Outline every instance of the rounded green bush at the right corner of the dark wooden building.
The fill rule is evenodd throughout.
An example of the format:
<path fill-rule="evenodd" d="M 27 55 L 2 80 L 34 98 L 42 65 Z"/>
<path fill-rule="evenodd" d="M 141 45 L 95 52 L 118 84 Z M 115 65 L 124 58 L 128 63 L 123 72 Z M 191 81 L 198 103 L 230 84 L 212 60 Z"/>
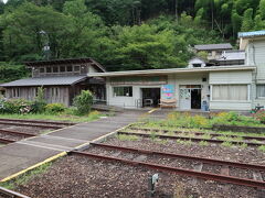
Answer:
<path fill-rule="evenodd" d="M 82 90 L 81 95 L 74 98 L 74 106 L 77 108 L 77 114 L 83 116 L 91 112 L 93 95 L 89 90 Z"/>

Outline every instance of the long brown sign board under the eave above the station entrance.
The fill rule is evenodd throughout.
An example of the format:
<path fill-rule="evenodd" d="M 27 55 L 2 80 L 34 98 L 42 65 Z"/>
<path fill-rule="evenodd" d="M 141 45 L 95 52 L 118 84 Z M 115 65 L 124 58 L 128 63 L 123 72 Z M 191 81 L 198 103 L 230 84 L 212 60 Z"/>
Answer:
<path fill-rule="evenodd" d="M 128 76 L 110 78 L 112 85 L 165 85 L 167 81 L 167 76 Z"/>

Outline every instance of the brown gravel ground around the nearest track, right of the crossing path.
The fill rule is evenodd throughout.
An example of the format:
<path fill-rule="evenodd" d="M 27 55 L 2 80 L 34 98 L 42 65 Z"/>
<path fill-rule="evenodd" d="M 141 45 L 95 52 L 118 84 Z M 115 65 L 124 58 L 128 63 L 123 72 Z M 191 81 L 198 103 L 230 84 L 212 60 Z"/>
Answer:
<path fill-rule="evenodd" d="M 147 139 L 119 141 L 110 139 L 108 144 L 191 154 L 219 160 L 265 164 L 265 154 L 254 148 L 221 147 L 218 145 L 182 145 L 173 142 L 156 143 Z M 95 148 L 89 148 L 89 152 Z M 115 154 L 115 153 L 113 153 Z M 116 155 L 117 152 L 116 152 Z M 125 157 L 135 157 L 134 154 Z M 166 163 L 165 161 L 163 163 Z M 172 163 L 171 161 L 168 162 Z M 205 167 L 208 168 L 208 167 Z M 55 162 L 49 170 L 35 176 L 18 191 L 34 198 L 70 197 L 147 197 L 148 176 L 156 170 L 132 167 L 117 162 L 93 160 L 84 156 L 67 156 Z M 159 173 L 156 197 L 179 198 L 258 198 L 259 190 L 243 186 L 195 179 L 168 173 Z"/>

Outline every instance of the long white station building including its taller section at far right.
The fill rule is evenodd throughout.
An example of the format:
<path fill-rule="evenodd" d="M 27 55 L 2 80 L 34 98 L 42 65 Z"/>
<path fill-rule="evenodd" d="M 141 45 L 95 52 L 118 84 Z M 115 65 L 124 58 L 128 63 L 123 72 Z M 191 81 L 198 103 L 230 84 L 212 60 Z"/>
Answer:
<path fill-rule="evenodd" d="M 250 111 L 265 106 L 265 31 L 239 34 L 245 63 L 88 74 L 106 79 L 106 101 L 121 108 Z"/>

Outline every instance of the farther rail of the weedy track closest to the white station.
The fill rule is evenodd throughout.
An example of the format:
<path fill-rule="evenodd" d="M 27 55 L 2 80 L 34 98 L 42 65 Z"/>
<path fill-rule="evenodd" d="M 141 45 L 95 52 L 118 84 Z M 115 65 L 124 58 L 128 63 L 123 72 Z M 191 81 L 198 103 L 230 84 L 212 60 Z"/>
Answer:
<path fill-rule="evenodd" d="M 247 135 L 236 135 L 236 134 L 222 134 L 222 133 L 203 133 L 203 132 L 195 132 L 195 131 L 177 131 L 177 130 L 160 130 L 160 129 L 151 129 L 151 128 L 135 128 L 130 127 L 128 129 L 131 130 L 142 130 L 142 131 L 155 131 L 155 132 L 173 132 L 173 133 L 191 133 L 195 135 L 204 135 L 209 134 L 212 136 L 231 136 L 231 138 L 243 138 L 245 140 L 258 140 L 258 141 L 265 141 L 265 136 L 247 136 Z"/>

